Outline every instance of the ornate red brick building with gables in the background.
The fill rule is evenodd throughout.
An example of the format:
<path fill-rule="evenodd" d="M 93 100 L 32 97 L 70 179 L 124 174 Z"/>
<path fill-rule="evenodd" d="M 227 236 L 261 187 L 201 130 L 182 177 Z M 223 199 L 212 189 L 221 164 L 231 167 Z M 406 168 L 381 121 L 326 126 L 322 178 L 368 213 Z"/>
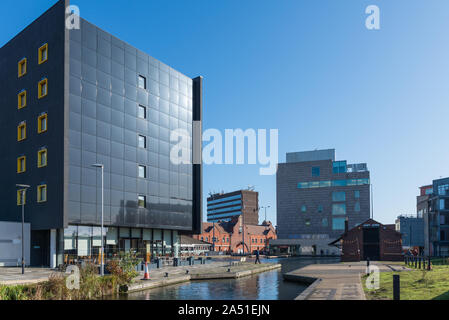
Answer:
<path fill-rule="evenodd" d="M 276 230 L 269 221 L 262 225 L 245 224 L 243 228 L 239 216 L 229 222 L 203 222 L 203 232 L 192 237 L 211 244 L 215 238 L 215 251 L 252 253 L 268 249 L 270 239 L 276 239 Z"/>

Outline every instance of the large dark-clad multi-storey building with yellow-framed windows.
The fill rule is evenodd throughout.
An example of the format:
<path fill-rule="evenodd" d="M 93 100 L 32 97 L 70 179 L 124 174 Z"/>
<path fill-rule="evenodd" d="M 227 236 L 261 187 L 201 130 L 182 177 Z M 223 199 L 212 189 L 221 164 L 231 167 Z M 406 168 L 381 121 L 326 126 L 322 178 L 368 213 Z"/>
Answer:
<path fill-rule="evenodd" d="M 202 78 L 84 19 L 67 28 L 68 2 L 0 48 L 0 221 L 20 221 L 15 185 L 29 184 L 31 264 L 95 257 L 102 197 L 92 165 L 102 164 L 106 255 L 176 254 L 178 231 L 201 231 L 201 167 L 170 161 L 170 132 L 185 129 L 190 159 L 201 153 L 192 127 L 201 120 Z"/>

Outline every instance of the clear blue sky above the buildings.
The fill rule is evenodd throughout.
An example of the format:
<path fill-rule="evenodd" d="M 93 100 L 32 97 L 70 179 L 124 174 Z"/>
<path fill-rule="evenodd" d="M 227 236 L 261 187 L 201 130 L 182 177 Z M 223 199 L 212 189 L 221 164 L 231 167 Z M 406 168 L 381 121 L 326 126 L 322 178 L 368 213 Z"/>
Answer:
<path fill-rule="evenodd" d="M 2 0 L 0 45 L 55 0 Z M 279 129 L 285 153 L 335 148 L 366 162 L 374 218 L 416 212 L 418 187 L 449 176 L 447 0 L 78 0 L 81 16 L 190 77 L 204 129 Z M 380 30 L 365 8 L 380 8 Z M 204 167 L 204 197 L 253 185 L 276 222 L 276 178 Z"/>

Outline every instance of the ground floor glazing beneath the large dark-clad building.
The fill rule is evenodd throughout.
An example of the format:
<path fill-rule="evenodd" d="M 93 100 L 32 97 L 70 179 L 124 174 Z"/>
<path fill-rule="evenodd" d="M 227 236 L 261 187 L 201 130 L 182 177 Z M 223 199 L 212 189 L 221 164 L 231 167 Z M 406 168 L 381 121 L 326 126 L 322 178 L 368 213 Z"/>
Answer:
<path fill-rule="evenodd" d="M 103 239 L 106 262 L 126 253 L 151 260 L 178 257 L 180 250 L 177 230 L 105 227 Z M 80 262 L 99 263 L 101 227 L 69 225 L 66 229 L 51 230 L 49 243 L 48 260 L 51 267 Z M 36 258 L 35 265 L 46 264 L 45 254 L 42 259 Z"/>

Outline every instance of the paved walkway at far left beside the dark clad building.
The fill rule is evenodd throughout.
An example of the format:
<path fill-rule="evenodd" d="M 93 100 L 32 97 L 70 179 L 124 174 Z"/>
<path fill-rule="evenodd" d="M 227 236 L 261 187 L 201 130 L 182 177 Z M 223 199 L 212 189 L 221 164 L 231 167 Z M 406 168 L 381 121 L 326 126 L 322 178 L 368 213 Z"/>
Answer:
<path fill-rule="evenodd" d="M 54 272 L 48 268 L 25 268 L 25 274 L 22 274 L 21 267 L 2 267 L 0 268 L 0 284 L 17 285 L 43 282 L 47 281 Z"/>

